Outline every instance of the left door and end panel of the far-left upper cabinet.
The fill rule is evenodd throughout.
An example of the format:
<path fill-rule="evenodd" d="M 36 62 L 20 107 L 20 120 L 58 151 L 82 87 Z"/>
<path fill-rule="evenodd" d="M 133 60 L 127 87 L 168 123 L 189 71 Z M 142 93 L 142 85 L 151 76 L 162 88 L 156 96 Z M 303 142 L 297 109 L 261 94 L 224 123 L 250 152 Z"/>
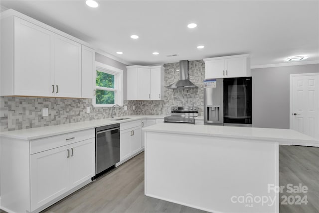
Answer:
<path fill-rule="evenodd" d="M 1 19 L 1 96 L 52 96 L 53 33 L 18 17 Z"/>

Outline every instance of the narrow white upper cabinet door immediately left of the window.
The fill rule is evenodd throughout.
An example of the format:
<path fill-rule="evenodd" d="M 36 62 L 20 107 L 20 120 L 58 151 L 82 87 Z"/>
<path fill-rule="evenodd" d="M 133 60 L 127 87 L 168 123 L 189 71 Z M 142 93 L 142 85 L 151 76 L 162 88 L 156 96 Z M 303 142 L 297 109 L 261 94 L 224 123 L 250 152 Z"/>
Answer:
<path fill-rule="evenodd" d="M 92 99 L 95 86 L 95 51 L 82 45 L 82 98 Z"/>

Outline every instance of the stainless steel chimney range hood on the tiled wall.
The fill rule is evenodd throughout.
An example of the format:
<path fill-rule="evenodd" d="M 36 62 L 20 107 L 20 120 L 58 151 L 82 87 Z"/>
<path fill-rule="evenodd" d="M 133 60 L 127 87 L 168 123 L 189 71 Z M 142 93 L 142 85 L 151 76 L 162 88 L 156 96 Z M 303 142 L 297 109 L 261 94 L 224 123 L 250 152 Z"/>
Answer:
<path fill-rule="evenodd" d="M 179 80 L 167 86 L 168 89 L 198 88 L 188 80 L 188 60 L 179 61 Z"/>

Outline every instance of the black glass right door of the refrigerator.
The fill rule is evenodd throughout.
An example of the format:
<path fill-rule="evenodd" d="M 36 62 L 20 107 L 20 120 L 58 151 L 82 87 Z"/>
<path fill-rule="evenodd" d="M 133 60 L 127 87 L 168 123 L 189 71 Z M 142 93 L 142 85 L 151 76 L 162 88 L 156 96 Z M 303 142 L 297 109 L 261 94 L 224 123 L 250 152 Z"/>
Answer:
<path fill-rule="evenodd" d="M 251 77 L 224 79 L 224 123 L 252 124 Z"/>

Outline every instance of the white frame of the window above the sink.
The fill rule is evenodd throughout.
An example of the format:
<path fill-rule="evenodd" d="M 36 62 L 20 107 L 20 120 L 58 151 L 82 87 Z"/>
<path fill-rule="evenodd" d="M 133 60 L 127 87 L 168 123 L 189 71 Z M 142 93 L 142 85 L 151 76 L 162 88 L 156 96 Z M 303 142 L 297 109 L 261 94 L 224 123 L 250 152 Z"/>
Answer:
<path fill-rule="evenodd" d="M 96 71 L 114 75 L 114 89 L 96 86 Z M 96 96 L 94 95 L 94 98 L 92 99 L 92 105 L 94 107 L 112 107 L 114 105 L 123 106 L 123 70 L 96 61 L 93 75 L 94 91 L 114 91 L 114 104 L 96 104 Z"/>

